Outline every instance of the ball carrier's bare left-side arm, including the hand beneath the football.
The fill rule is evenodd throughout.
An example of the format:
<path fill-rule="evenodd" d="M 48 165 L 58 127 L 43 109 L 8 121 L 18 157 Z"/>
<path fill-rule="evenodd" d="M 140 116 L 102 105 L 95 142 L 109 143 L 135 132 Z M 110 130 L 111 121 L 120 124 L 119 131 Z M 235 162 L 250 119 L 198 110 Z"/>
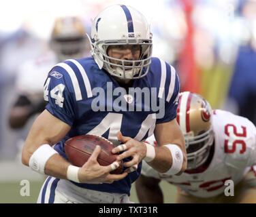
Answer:
<path fill-rule="evenodd" d="M 42 144 L 52 146 L 59 142 L 69 132 L 70 126 L 51 115 L 47 110 L 37 117 L 22 150 L 22 163 L 29 165 L 31 156 Z M 78 180 L 86 183 L 107 182 L 124 178 L 127 174 L 110 174 L 111 166 L 101 166 L 97 163 L 100 147 L 97 147 L 89 160 L 78 170 Z M 57 178 L 67 179 L 67 169 L 71 165 L 59 153 L 54 153 L 45 163 L 44 173 Z"/>

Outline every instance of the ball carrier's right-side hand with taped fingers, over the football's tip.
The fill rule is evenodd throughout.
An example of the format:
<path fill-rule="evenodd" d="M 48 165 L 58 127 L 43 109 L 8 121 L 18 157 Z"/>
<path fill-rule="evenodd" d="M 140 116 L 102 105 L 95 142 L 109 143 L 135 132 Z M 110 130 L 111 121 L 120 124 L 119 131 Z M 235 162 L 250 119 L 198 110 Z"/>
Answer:
<path fill-rule="evenodd" d="M 121 132 L 118 132 L 117 138 L 119 141 L 123 142 L 123 144 L 116 146 L 112 149 L 112 153 L 116 154 L 120 151 L 125 151 L 121 155 L 118 155 L 116 158 L 117 161 L 121 161 L 126 157 L 132 157 L 131 161 L 127 161 L 124 163 L 125 167 L 131 167 L 126 172 L 132 172 L 133 170 L 137 170 L 138 164 L 144 157 L 146 156 L 146 145 L 143 142 L 139 142 L 137 140 L 133 140 L 131 137 L 123 136 Z"/>

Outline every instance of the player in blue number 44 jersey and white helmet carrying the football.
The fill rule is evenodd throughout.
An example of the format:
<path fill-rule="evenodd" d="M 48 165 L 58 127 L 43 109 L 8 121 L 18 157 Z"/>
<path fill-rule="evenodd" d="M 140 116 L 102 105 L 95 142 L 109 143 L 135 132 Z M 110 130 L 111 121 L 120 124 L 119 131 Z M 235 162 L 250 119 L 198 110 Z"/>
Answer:
<path fill-rule="evenodd" d="M 142 159 L 166 175 L 187 167 L 176 122 L 178 75 L 151 57 L 152 34 L 144 16 L 126 5 L 107 7 L 93 20 L 89 38 L 93 57 L 65 60 L 48 73 L 48 105 L 22 150 L 22 163 L 48 175 L 38 203 L 129 203 Z M 144 143 L 153 133 L 157 147 Z M 71 165 L 65 141 L 82 134 L 113 142 L 117 161 L 99 165 L 97 146 L 82 167 Z M 122 160 L 123 173 L 110 174 Z"/>

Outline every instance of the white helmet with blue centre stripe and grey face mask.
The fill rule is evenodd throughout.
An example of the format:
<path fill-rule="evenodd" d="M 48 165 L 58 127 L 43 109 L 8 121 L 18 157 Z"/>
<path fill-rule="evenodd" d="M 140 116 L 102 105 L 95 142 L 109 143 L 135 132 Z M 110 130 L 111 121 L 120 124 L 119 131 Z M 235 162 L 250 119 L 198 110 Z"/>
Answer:
<path fill-rule="evenodd" d="M 93 58 L 99 68 L 121 79 L 139 79 L 148 73 L 152 34 L 146 18 L 138 10 L 126 5 L 113 5 L 100 12 L 92 22 L 89 39 Z M 112 58 L 107 54 L 110 45 L 140 45 L 140 59 Z M 114 64 L 110 60 L 121 64 Z"/>

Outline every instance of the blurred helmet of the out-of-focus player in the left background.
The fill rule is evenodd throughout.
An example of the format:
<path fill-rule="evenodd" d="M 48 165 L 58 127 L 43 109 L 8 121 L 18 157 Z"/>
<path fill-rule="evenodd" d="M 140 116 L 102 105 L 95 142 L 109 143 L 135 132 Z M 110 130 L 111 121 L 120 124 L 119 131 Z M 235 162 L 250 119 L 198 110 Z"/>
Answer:
<path fill-rule="evenodd" d="M 86 31 L 82 20 L 75 16 L 57 18 L 52 28 L 50 46 L 59 61 L 82 58 L 87 49 Z"/>

